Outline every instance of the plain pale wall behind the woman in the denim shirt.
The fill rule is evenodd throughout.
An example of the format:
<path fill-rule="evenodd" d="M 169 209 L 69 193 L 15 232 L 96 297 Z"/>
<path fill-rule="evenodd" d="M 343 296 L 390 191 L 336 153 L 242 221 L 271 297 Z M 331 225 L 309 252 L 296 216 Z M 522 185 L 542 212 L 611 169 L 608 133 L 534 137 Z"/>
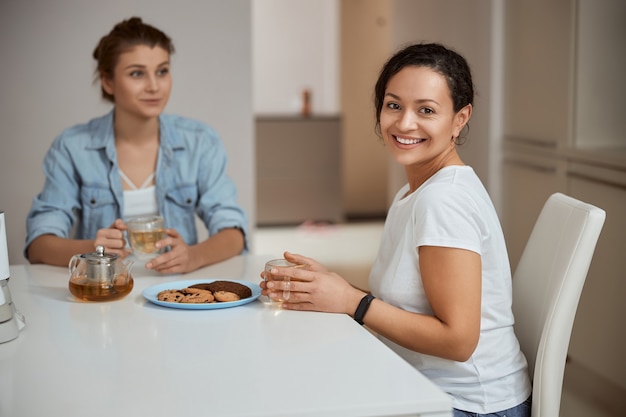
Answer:
<path fill-rule="evenodd" d="M 11 263 L 24 263 L 26 214 L 43 185 L 53 138 L 109 107 L 93 85 L 93 48 L 133 15 L 174 41 L 174 90 L 166 112 L 220 133 L 229 173 L 254 224 L 250 0 L 0 1 L 0 210 Z"/>

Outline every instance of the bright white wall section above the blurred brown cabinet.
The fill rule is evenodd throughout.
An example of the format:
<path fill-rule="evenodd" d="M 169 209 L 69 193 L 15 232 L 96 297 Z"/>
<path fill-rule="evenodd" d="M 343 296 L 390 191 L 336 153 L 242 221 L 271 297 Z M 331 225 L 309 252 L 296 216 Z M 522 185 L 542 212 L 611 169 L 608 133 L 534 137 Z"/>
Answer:
<path fill-rule="evenodd" d="M 312 91 L 312 110 L 339 111 L 339 0 L 253 0 L 255 114 L 300 111 Z"/>

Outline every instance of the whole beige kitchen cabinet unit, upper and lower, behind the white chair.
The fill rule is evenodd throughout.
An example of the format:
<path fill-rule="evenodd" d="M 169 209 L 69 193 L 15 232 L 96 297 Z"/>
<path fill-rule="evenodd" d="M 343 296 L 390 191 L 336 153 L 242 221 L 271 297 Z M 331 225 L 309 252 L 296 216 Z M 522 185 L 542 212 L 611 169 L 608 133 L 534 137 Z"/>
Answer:
<path fill-rule="evenodd" d="M 611 119 L 623 107 L 626 91 L 623 71 L 615 69 L 626 62 L 626 32 L 614 18 L 626 16 L 626 3 L 602 3 L 506 2 L 501 164 L 501 218 L 513 268 L 551 193 L 569 194 L 607 213 L 569 348 L 570 360 L 588 371 L 584 379 L 603 384 L 589 387 L 598 398 L 626 392 L 626 256 L 621 253 L 626 248 L 626 135 L 623 123 Z M 603 60 L 586 58 L 598 48 Z"/>

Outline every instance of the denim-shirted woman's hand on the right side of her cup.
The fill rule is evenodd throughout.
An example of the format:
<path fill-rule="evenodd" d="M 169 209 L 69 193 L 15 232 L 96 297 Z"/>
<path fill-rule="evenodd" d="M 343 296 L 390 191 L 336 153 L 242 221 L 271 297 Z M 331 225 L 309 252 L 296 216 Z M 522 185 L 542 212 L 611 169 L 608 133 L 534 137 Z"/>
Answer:
<path fill-rule="evenodd" d="M 152 269 L 162 274 L 178 274 L 191 272 L 197 267 L 192 264 L 193 256 L 191 247 L 175 229 L 165 231 L 167 237 L 159 240 L 155 245 L 158 248 L 170 247 L 170 250 L 151 259 L 147 264 L 147 269 Z"/>

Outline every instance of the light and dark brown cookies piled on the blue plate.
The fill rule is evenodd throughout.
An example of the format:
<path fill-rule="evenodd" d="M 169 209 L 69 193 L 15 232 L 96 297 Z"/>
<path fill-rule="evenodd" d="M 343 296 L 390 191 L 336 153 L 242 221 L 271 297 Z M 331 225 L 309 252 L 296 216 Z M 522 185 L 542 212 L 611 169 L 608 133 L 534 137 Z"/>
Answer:
<path fill-rule="evenodd" d="M 238 282 L 213 281 L 194 284 L 182 289 L 163 290 L 157 295 L 159 301 L 168 303 L 224 303 L 252 296 L 252 290 Z"/>

